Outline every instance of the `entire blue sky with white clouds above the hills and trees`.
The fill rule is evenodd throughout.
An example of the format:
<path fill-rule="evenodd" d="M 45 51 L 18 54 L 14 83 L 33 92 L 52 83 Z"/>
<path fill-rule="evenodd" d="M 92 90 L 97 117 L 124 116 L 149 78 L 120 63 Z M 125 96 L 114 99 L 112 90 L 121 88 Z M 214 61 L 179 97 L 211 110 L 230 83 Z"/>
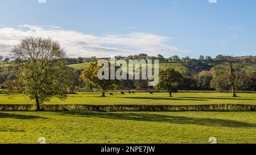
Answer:
<path fill-rule="evenodd" d="M 26 36 L 69 57 L 256 54 L 255 0 L 0 0 L 0 55 Z"/>

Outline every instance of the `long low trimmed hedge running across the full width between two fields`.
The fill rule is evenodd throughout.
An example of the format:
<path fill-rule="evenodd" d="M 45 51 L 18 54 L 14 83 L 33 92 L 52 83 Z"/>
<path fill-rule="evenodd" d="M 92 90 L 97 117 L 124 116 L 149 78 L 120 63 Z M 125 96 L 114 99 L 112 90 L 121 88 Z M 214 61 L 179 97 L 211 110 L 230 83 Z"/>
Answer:
<path fill-rule="evenodd" d="M 256 104 L 205 104 L 205 105 L 90 105 L 46 104 L 44 111 L 256 111 Z M 33 104 L 0 104 L 0 111 L 34 111 Z"/>

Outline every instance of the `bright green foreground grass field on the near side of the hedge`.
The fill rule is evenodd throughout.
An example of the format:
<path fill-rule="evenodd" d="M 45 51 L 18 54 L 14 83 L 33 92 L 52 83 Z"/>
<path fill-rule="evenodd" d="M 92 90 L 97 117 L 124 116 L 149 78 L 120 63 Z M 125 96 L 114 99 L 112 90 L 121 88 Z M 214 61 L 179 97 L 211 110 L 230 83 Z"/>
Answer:
<path fill-rule="evenodd" d="M 256 143 L 255 112 L 0 112 L 0 143 Z"/>

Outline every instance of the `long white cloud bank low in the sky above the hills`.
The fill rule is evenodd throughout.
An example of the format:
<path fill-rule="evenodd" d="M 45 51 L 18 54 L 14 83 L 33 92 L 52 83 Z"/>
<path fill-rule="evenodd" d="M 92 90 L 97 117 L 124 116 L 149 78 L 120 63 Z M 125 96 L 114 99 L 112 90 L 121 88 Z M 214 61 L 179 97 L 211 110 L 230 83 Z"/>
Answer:
<path fill-rule="evenodd" d="M 26 36 L 52 37 L 53 40 L 59 41 L 71 57 L 109 57 L 135 55 L 141 52 L 148 55 L 160 53 L 169 56 L 179 52 L 190 52 L 168 45 L 167 42 L 172 40 L 170 37 L 150 33 L 133 32 L 126 35 L 107 33 L 97 36 L 64 30 L 56 26 L 22 25 L 18 28 L 0 28 L 0 55 L 7 55 L 11 48 Z"/>

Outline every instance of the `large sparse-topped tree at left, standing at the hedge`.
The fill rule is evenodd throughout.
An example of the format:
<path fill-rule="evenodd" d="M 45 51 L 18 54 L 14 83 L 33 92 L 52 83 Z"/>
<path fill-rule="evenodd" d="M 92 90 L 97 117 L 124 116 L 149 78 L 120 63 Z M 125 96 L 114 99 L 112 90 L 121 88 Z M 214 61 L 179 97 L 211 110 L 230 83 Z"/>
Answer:
<path fill-rule="evenodd" d="M 23 93 L 36 102 L 36 110 L 43 110 L 43 103 L 53 97 L 67 98 L 70 85 L 65 52 L 52 39 L 26 37 L 11 51 L 15 59 L 16 79 L 9 81 L 13 93 Z"/>

